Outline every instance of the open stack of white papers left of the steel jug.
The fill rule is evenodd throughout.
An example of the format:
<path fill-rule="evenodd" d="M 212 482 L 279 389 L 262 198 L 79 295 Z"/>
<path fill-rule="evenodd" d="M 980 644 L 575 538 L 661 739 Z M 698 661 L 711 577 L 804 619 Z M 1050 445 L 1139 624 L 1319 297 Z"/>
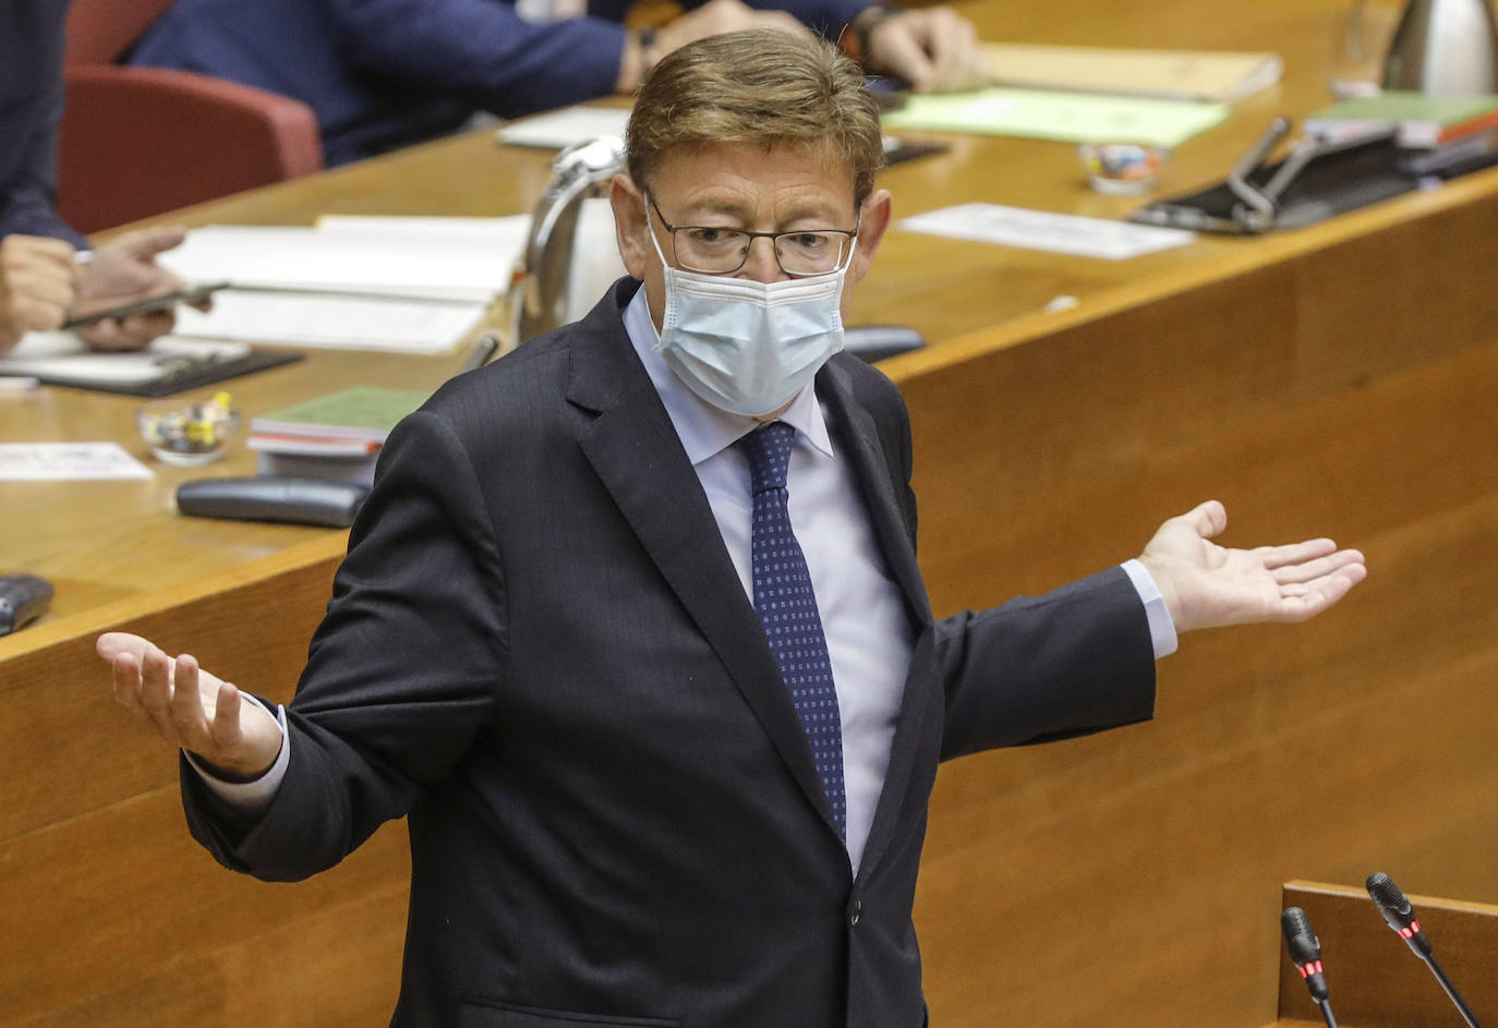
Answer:
<path fill-rule="evenodd" d="M 440 352 L 509 286 L 530 219 L 327 217 L 316 228 L 210 225 L 160 256 L 225 279 L 177 334 L 292 346 Z"/>

